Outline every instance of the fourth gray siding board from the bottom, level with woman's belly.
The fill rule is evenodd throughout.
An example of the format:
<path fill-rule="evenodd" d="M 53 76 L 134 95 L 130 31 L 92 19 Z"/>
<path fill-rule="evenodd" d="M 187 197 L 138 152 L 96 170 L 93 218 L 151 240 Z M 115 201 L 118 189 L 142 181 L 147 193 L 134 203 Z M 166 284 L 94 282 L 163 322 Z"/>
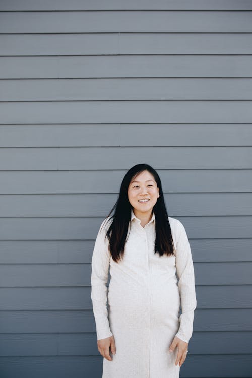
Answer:
<path fill-rule="evenodd" d="M 251 285 L 196 286 L 198 309 L 252 308 Z M 90 287 L 0 288 L 1 310 L 91 310 Z"/>

